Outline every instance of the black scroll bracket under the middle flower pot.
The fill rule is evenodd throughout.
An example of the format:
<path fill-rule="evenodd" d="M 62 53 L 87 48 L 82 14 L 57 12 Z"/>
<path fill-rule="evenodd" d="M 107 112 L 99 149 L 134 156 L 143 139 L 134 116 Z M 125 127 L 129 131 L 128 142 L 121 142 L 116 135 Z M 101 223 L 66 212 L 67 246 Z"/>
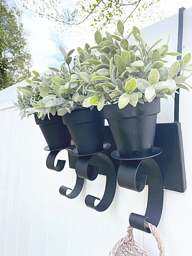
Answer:
<path fill-rule="evenodd" d="M 104 153 L 99 153 L 94 156 L 80 157 L 76 162 L 76 174 L 81 178 L 93 181 L 99 174 L 106 176 L 105 191 L 102 199 L 98 197 L 87 195 L 85 204 L 98 212 L 103 212 L 109 208 L 113 202 L 116 192 L 117 175 L 115 167 L 111 159 Z M 100 200 L 99 204 L 95 206 L 95 200 Z"/>

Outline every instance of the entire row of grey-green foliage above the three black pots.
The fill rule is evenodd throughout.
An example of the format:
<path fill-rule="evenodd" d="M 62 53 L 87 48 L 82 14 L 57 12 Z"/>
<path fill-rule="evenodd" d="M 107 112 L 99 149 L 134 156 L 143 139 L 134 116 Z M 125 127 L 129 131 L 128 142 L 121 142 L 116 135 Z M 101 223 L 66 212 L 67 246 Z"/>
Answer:
<path fill-rule="evenodd" d="M 131 45 L 128 39 L 133 34 L 136 44 Z M 157 47 L 162 38 L 153 45 L 148 45 L 138 28 L 133 27 L 130 34 L 124 37 L 124 24 L 119 20 L 117 31 L 111 35 L 106 32 L 95 32 L 96 45 L 86 44 L 84 49 L 77 47 L 79 56 L 70 69 L 71 54 L 60 46 L 65 62 L 61 70 L 50 68 L 52 74 L 40 77 L 38 72 L 29 85 L 17 88 L 18 101 L 14 104 L 21 110 L 20 115 L 38 113 L 45 118 L 49 113 L 65 115 L 76 108 L 99 111 L 104 104 L 118 103 L 120 109 L 127 104 L 134 107 L 139 102 L 152 102 L 154 98 L 174 97 L 178 88 L 189 90 L 186 80 L 192 75 L 184 76 L 184 71 L 192 71 L 189 64 L 191 54 L 176 60 L 169 67 L 166 56 L 180 56 L 178 52 L 169 52 L 168 43 Z M 55 71 L 56 73 L 53 73 Z M 179 75 L 178 75 L 179 74 Z"/>

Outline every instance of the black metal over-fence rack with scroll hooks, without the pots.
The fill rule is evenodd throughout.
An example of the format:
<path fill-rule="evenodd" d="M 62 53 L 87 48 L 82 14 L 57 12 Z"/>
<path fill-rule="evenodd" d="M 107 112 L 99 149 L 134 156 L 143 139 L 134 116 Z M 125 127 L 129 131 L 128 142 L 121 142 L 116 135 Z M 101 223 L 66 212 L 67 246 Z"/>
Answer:
<path fill-rule="evenodd" d="M 183 11 L 179 9 L 178 52 L 182 51 Z M 178 56 L 180 58 L 180 56 Z M 143 232 L 150 233 L 145 228 L 145 221 L 158 226 L 162 210 L 164 189 L 185 192 L 186 177 L 181 125 L 179 123 L 179 96 L 175 97 L 175 122 L 156 125 L 155 141 L 152 155 L 140 159 L 120 158 L 109 126 L 105 126 L 103 151 L 94 154 L 78 154 L 73 141 L 71 146 L 64 148 L 68 151 L 69 167 L 76 171 L 76 184 L 71 193 L 67 194 L 66 186 L 61 186 L 59 192 L 67 198 L 77 197 L 84 179 L 93 181 L 98 175 L 106 176 L 103 198 L 87 195 L 85 203 L 88 207 L 102 212 L 111 205 L 119 186 L 141 192 L 148 185 L 148 202 L 145 215 L 130 214 L 130 225 Z M 49 148 L 45 148 L 49 150 Z M 54 161 L 62 149 L 49 153 L 46 160 L 47 168 L 61 171 L 65 167 L 65 160 Z M 50 151 L 50 150 L 49 150 Z M 95 200 L 100 202 L 95 206 Z"/>

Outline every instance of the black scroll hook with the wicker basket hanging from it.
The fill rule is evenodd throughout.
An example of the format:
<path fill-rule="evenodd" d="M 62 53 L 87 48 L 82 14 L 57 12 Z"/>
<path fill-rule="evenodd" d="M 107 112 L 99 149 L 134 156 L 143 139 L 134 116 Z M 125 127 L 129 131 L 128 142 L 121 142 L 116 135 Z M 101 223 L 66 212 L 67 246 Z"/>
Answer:
<path fill-rule="evenodd" d="M 158 164 L 152 158 L 140 161 L 122 161 L 117 181 L 119 186 L 137 192 L 141 192 L 145 188 L 147 181 L 149 188 L 146 213 L 144 216 L 131 213 L 129 221 L 133 228 L 150 233 L 150 230 L 145 228 L 145 221 L 157 227 L 163 210 L 164 185 Z"/>

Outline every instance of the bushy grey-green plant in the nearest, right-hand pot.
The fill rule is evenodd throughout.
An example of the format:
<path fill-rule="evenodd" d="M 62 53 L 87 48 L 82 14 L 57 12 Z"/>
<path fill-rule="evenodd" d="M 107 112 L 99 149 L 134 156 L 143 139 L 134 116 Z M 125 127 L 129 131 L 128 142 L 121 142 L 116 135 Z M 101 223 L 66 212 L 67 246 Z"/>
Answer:
<path fill-rule="evenodd" d="M 120 109 L 128 103 L 135 107 L 138 102 L 143 104 L 154 98 L 167 99 L 168 95 L 174 97 L 177 88 L 189 90 L 191 86 L 186 80 L 192 73 L 184 76 L 184 71 L 192 71 L 188 65 L 191 53 L 174 61 L 170 68 L 165 65 L 167 55 L 180 56 L 178 52 L 168 52 L 170 35 L 166 44 L 155 48 L 162 38 L 150 46 L 136 27 L 124 37 L 124 24 L 120 20 L 117 30 L 114 35 L 106 32 L 106 37 L 102 37 L 98 30 L 95 32 L 97 45 L 88 48 L 98 52 L 93 57 L 79 50 L 80 65 L 91 68 L 89 83 L 94 86 L 94 90 L 89 90 L 93 95 L 84 100 L 83 107 L 97 105 L 101 110 L 106 102 L 118 102 Z M 128 43 L 132 34 L 136 41 L 134 45 Z M 84 57 L 86 61 L 83 61 Z"/>

